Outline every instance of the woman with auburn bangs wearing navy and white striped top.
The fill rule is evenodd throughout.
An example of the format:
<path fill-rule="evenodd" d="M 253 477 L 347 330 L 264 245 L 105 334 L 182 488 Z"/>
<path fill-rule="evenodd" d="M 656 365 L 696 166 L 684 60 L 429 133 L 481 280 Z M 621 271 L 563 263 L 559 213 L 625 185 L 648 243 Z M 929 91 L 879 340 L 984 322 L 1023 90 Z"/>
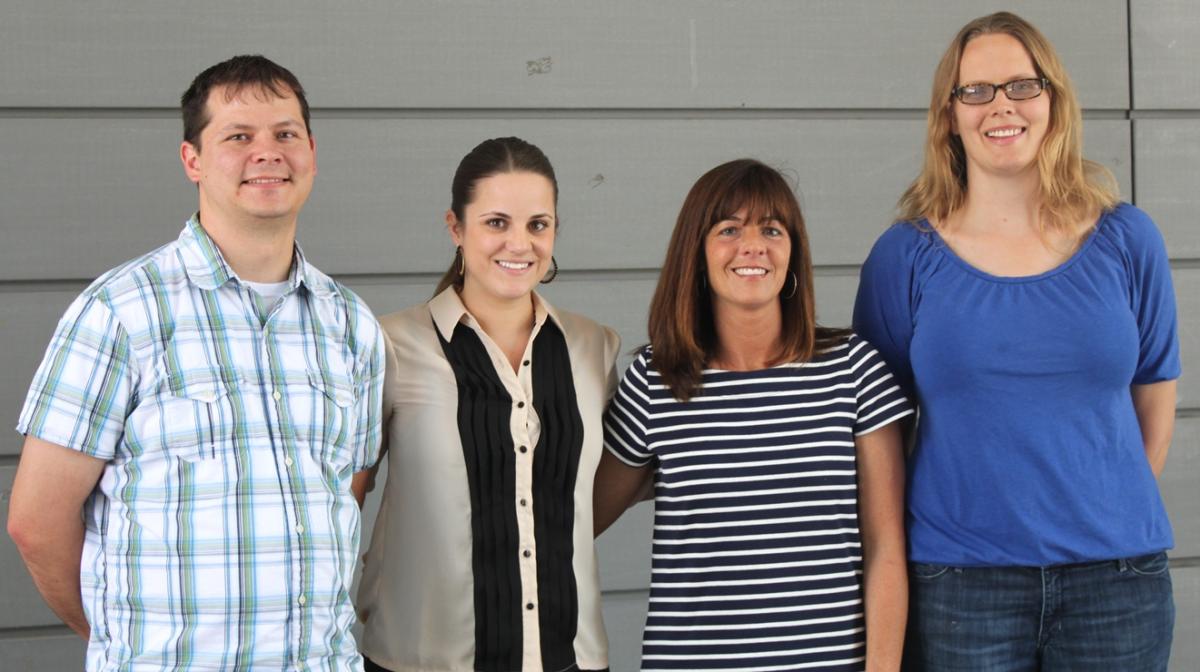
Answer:
<path fill-rule="evenodd" d="M 643 670 L 896 670 L 912 407 L 848 331 L 816 325 L 787 181 L 739 160 L 684 200 L 650 346 L 605 420 L 596 533 L 653 478 Z"/>

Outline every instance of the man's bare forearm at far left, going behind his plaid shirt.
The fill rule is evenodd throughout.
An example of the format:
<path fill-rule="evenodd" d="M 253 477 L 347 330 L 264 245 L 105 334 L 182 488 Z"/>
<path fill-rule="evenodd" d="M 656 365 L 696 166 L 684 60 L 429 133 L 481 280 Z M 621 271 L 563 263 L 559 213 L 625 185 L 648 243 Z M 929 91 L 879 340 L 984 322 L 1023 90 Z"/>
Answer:
<path fill-rule="evenodd" d="M 55 529 L 53 535 L 22 540 L 17 547 L 46 604 L 62 623 L 86 640 L 90 626 L 79 588 L 83 535 L 83 521 L 76 518 Z"/>

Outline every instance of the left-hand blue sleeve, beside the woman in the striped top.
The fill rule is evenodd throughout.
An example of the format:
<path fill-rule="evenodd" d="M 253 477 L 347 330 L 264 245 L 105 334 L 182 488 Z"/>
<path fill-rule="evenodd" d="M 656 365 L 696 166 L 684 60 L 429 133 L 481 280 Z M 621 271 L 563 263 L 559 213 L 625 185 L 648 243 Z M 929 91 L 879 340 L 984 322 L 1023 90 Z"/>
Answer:
<path fill-rule="evenodd" d="M 893 224 L 871 248 L 858 278 L 854 331 L 878 349 L 900 385 L 914 390 L 908 347 L 912 342 L 913 246 L 911 224 Z"/>

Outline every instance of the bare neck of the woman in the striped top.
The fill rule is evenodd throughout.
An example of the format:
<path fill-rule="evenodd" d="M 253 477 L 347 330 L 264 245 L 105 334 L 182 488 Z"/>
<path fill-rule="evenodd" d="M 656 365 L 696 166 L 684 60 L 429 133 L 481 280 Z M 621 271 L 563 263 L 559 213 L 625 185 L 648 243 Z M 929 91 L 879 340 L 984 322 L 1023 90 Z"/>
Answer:
<path fill-rule="evenodd" d="M 779 302 L 756 310 L 713 306 L 718 352 L 712 365 L 756 371 L 778 364 L 784 317 Z"/>

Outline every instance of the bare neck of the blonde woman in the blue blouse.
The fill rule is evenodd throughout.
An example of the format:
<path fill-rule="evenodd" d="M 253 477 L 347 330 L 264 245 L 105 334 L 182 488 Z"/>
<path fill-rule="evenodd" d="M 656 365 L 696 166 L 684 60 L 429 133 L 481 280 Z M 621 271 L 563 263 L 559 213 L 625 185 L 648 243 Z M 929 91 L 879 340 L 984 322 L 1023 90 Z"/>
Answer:
<path fill-rule="evenodd" d="M 1042 197 L 1036 169 L 1014 176 L 979 173 L 968 173 L 966 203 L 949 217 L 953 227 L 1014 234 L 1040 230 Z"/>

